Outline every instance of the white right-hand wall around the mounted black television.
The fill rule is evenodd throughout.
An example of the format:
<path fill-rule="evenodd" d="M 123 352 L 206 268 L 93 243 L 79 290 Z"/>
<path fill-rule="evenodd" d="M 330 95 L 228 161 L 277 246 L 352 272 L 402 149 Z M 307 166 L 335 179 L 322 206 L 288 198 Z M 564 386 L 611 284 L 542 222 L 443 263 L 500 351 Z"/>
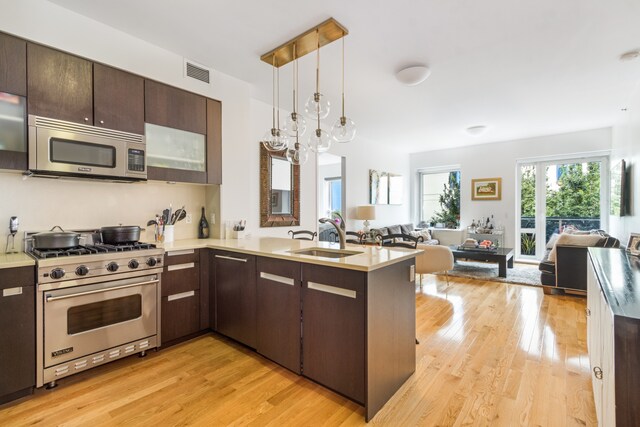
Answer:
<path fill-rule="evenodd" d="M 624 217 L 609 217 L 611 235 L 626 245 L 629 233 L 640 233 L 640 85 L 630 96 L 627 111 L 621 123 L 613 128 L 611 164 L 624 159 L 627 165 L 629 206 L 631 212 Z"/>

